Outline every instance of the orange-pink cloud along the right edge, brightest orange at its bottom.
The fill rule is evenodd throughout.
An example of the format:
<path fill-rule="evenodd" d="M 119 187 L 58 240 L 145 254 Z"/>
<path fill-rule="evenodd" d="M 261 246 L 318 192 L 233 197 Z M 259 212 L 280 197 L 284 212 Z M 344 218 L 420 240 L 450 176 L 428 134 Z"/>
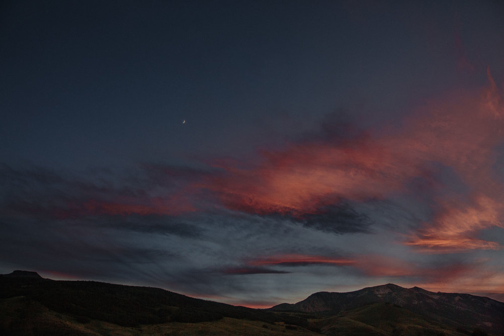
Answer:
<path fill-rule="evenodd" d="M 442 205 L 430 223 L 412 234 L 406 245 L 422 251 L 498 249 L 495 242 L 475 238 L 493 226 L 504 228 L 503 186 L 494 171 L 504 130 L 504 104 L 488 74 L 489 88 L 483 94 L 459 97 L 439 107 L 414 134 L 416 150 L 426 158 L 450 166 L 469 188 L 469 201 L 438 198 Z M 413 146 L 415 147 L 415 146 Z"/>

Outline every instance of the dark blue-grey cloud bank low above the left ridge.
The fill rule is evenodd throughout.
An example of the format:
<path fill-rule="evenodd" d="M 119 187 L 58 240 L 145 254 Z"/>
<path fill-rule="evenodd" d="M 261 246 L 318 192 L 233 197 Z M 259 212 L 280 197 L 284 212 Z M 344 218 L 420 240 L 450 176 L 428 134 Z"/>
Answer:
<path fill-rule="evenodd" d="M 11 219 L 1 225 L 4 230 L 0 251 L 9 256 L 5 261 L 28 269 L 65 271 L 85 278 L 120 278 L 139 265 L 177 259 L 175 251 L 135 244 L 126 236 L 65 223 Z"/>

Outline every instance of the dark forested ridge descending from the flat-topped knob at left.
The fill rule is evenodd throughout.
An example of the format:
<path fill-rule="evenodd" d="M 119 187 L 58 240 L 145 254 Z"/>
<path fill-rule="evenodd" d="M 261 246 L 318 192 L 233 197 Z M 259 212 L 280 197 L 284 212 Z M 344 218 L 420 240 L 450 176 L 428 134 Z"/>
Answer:
<path fill-rule="evenodd" d="M 0 298 L 24 296 L 59 313 L 98 319 L 123 326 L 214 321 L 226 317 L 273 323 L 279 314 L 236 307 L 165 291 L 159 288 L 113 285 L 94 281 L 54 281 L 36 272 L 20 271 L 0 277 Z M 29 273 L 30 276 L 27 276 Z M 20 276 L 18 276 L 20 275 Z M 308 327 L 305 318 L 286 318 Z"/>

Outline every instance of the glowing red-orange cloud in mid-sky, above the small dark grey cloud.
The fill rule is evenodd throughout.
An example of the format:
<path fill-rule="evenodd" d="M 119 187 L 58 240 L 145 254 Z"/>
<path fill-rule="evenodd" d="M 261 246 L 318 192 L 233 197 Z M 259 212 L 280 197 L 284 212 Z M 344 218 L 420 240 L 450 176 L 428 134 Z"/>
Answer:
<path fill-rule="evenodd" d="M 302 215 L 341 197 L 382 198 L 401 189 L 407 177 L 422 174 L 420 167 L 369 139 L 342 145 L 293 144 L 264 156 L 254 170 L 223 167 L 227 175 L 205 187 L 232 209 Z"/>

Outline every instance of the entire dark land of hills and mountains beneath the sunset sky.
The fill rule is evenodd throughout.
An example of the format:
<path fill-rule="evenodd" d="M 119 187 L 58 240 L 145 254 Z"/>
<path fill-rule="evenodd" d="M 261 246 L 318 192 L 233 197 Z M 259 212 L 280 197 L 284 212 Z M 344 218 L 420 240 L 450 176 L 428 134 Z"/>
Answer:
<path fill-rule="evenodd" d="M 6 335 L 502 335 L 503 314 L 504 303 L 488 298 L 392 284 L 251 309 L 158 288 L 0 275 Z"/>

